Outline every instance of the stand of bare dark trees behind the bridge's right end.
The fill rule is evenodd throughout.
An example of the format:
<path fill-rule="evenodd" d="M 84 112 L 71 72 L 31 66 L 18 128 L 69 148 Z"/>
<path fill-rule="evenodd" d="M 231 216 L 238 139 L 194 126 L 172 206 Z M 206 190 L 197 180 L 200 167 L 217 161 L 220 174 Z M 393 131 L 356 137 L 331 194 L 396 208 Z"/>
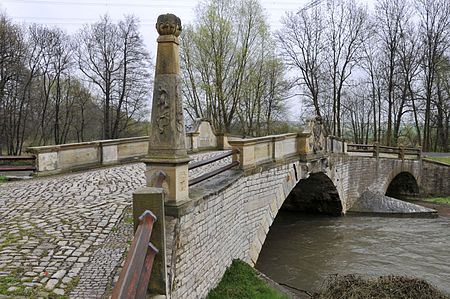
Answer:
<path fill-rule="evenodd" d="M 448 0 L 315 1 L 282 23 L 279 50 L 329 134 L 449 151 Z"/>

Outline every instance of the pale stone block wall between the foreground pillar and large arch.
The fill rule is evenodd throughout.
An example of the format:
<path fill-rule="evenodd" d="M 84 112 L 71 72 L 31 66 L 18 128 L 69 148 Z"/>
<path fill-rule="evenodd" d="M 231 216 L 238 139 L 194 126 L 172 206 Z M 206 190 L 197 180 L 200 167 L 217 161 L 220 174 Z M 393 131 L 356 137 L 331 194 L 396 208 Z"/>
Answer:
<path fill-rule="evenodd" d="M 237 174 L 220 192 L 194 199 L 186 214 L 166 217 L 172 298 L 205 297 L 235 258 L 256 263 L 272 221 L 296 184 L 292 164 L 247 177 Z"/>

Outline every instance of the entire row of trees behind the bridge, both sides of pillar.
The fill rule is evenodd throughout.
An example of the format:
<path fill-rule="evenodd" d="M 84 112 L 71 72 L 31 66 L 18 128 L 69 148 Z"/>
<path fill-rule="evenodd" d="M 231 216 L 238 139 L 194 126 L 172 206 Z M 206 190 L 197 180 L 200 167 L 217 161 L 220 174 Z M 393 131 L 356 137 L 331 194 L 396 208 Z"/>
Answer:
<path fill-rule="evenodd" d="M 311 1 L 272 34 L 258 0 L 207 0 L 180 39 L 186 117 L 216 131 L 290 129 L 287 99 L 356 143 L 449 150 L 448 0 Z M 135 17 L 67 35 L 0 16 L 0 149 L 137 134 L 151 98 Z M 143 132 L 141 132 L 143 134 Z"/>

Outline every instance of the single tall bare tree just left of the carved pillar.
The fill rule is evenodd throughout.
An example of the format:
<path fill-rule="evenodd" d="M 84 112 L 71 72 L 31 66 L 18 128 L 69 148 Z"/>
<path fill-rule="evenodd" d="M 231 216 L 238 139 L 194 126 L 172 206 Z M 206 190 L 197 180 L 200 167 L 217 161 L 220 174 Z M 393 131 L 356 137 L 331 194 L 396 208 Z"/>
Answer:
<path fill-rule="evenodd" d="M 78 35 L 78 65 L 101 97 L 103 138 L 118 138 L 145 108 L 150 92 L 150 58 L 127 16 L 115 24 L 108 15 Z"/>

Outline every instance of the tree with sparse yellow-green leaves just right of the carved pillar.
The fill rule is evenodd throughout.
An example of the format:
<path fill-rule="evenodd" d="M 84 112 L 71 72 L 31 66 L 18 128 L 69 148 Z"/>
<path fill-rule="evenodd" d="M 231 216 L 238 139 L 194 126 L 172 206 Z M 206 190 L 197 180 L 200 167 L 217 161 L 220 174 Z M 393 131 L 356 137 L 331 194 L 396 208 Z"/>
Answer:
<path fill-rule="evenodd" d="M 260 134 L 268 67 L 263 62 L 274 58 L 270 43 L 258 1 L 200 4 L 197 21 L 185 27 L 181 40 L 188 115 L 209 118 L 222 132 L 238 125 Z"/>

